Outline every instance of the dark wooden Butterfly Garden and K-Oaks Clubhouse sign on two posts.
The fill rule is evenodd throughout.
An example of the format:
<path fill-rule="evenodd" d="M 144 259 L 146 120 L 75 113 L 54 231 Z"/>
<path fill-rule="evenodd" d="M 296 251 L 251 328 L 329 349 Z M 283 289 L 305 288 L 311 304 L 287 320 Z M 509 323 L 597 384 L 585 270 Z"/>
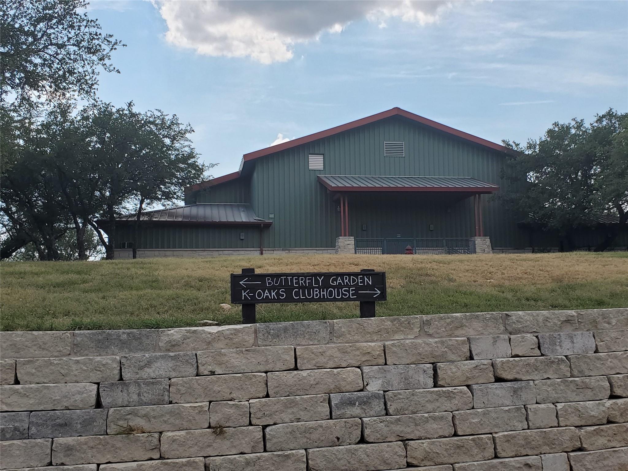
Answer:
<path fill-rule="evenodd" d="M 256 274 L 254 268 L 243 268 L 231 274 L 231 302 L 242 305 L 245 324 L 256 322 L 256 304 L 332 301 L 357 301 L 360 317 L 375 317 L 375 301 L 386 301 L 386 272 Z"/>

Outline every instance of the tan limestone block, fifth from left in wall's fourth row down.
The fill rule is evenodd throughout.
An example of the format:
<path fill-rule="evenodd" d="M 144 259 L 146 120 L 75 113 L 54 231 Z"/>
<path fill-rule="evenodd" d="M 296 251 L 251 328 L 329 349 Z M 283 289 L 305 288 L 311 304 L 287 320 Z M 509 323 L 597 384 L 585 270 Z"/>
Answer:
<path fill-rule="evenodd" d="M 251 399 L 252 425 L 305 422 L 329 418 L 329 396 L 291 396 L 288 398 Z"/>

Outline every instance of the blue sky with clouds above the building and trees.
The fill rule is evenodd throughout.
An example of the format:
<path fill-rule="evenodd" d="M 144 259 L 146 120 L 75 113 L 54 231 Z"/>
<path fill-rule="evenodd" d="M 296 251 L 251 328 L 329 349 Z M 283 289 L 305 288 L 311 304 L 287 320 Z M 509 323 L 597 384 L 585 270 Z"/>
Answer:
<path fill-rule="evenodd" d="M 98 95 L 242 154 L 400 107 L 484 139 L 628 111 L 628 1 L 93 0 L 127 44 Z"/>

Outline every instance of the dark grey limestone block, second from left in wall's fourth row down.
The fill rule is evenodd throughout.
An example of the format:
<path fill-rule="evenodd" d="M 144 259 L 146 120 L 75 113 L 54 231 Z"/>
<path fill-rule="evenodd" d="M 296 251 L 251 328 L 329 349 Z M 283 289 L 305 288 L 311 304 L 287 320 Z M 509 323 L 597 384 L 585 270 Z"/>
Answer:
<path fill-rule="evenodd" d="M 107 409 L 33 412 L 28 438 L 59 438 L 107 434 Z"/>

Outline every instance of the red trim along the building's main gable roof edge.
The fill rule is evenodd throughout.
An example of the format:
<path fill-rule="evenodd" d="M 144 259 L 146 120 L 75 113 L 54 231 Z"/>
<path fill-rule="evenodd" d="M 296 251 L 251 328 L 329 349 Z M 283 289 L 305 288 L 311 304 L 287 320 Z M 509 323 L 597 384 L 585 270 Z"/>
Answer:
<path fill-rule="evenodd" d="M 425 126 L 432 127 L 433 129 L 438 129 L 438 131 L 442 131 L 443 133 L 452 134 L 461 139 L 465 139 L 467 141 L 471 141 L 472 143 L 479 144 L 480 146 L 485 146 L 490 149 L 494 149 L 500 152 L 511 151 L 511 149 L 502 146 L 501 144 L 496 144 L 491 141 L 487 141 L 486 139 L 479 138 L 474 136 L 473 134 L 468 134 L 458 129 L 454 129 L 450 126 L 445 126 L 445 124 L 441 124 L 440 122 L 432 121 L 431 119 L 427 119 L 423 116 L 419 116 L 418 114 L 411 113 L 409 111 L 403 110 L 399 107 L 394 107 L 387 111 L 382 111 L 381 113 L 372 114 L 371 116 L 363 117 L 361 119 L 356 119 L 355 121 L 347 122 L 346 124 L 341 124 L 340 126 L 330 127 L 330 129 L 325 129 L 325 131 L 319 131 L 318 133 L 309 134 L 308 136 L 303 136 L 303 138 L 292 139 L 291 141 L 286 141 L 282 144 L 276 144 L 275 146 L 270 146 L 264 149 L 259 149 L 258 151 L 249 152 L 242 156 L 242 163 L 247 162 L 249 160 L 255 160 L 257 158 L 266 156 L 268 154 L 274 154 L 276 152 L 283 151 L 285 149 L 290 149 L 296 146 L 300 146 L 301 144 L 310 143 L 311 141 L 315 141 L 317 139 L 327 138 L 329 136 L 333 136 L 333 134 L 342 133 L 344 131 L 349 131 L 349 129 L 354 129 L 355 127 L 364 126 L 365 124 L 370 124 L 371 122 L 379 121 L 380 119 L 385 119 L 391 116 L 403 116 L 405 118 L 411 119 L 416 122 L 420 122 Z M 186 192 L 195 192 L 197 190 L 201 190 L 202 188 L 213 187 L 214 185 L 218 185 L 219 183 L 224 183 L 225 181 L 234 180 L 240 176 L 240 172 L 236 171 L 234 173 L 229 173 L 229 175 L 219 176 L 217 178 L 212 178 L 212 180 L 202 181 L 201 183 L 197 183 L 196 185 L 192 185 L 192 187 L 185 188 Z"/>

